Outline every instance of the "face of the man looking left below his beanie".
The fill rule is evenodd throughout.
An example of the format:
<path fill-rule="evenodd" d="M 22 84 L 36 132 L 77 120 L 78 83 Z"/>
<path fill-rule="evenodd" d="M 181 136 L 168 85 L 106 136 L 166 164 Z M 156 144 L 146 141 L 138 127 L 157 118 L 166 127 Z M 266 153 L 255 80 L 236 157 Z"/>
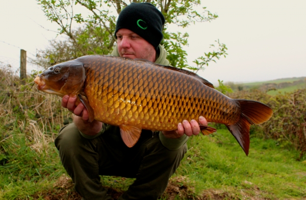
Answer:
<path fill-rule="evenodd" d="M 121 57 L 129 59 L 145 59 L 155 62 L 155 48 L 145 39 L 126 28 L 119 29 L 116 36 L 118 52 Z"/>

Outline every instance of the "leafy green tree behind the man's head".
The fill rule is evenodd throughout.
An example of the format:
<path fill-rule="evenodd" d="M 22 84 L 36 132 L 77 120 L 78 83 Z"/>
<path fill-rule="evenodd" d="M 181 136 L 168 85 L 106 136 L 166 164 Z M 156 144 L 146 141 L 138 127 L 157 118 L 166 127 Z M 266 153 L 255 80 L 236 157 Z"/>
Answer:
<path fill-rule="evenodd" d="M 76 59 L 88 54 L 109 54 L 115 45 L 115 24 L 118 14 L 131 1 L 102 0 L 37 0 L 48 20 L 59 25 L 58 34 L 65 35 L 65 41 L 50 41 L 50 47 L 37 52 L 34 61 L 41 66 L 49 67 L 63 61 Z M 195 22 L 206 22 L 216 19 L 206 8 L 201 12 L 194 8 L 200 5 L 200 0 L 146 0 L 133 2 L 149 2 L 154 4 L 165 16 L 163 46 L 168 52 L 168 60 L 173 67 L 188 68 L 193 71 L 204 69 L 210 61 L 225 56 L 226 46 L 218 43 L 218 50 L 205 53 L 194 63 L 196 67 L 187 66 L 184 46 L 188 45 L 188 33 L 168 31 L 169 24 L 187 27 Z M 87 17 L 75 10 L 85 8 Z M 78 28 L 73 28 L 79 25 Z M 212 45 L 214 46 L 214 45 Z"/>

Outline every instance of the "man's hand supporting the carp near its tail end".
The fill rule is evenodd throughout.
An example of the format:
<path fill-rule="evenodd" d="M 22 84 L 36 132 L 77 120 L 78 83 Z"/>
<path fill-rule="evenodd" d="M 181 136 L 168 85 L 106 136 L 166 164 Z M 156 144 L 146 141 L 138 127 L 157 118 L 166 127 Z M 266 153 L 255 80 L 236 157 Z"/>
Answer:
<path fill-rule="evenodd" d="M 207 120 L 200 116 L 199 123 L 202 125 L 207 125 Z M 174 131 L 162 131 L 162 133 L 167 138 L 179 138 L 186 134 L 187 136 L 198 135 L 200 133 L 200 127 L 197 121 L 191 120 L 190 123 L 187 120 L 184 120 L 183 123 L 177 124 L 177 130 Z"/>

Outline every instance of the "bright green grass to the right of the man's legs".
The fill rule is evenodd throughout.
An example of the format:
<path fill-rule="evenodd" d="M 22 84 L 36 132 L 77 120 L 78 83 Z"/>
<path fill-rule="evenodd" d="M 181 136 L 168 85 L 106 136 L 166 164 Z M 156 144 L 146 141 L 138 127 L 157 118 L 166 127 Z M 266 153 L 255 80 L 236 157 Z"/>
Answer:
<path fill-rule="evenodd" d="M 264 198 L 306 197 L 306 164 L 296 161 L 298 152 L 281 149 L 274 140 L 251 138 L 245 156 L 227 130 L 211 137 L 193 137 L 177 174 L 195 183 L 195 191 L 219 189 L 242 198 L 254 192 Z M 258 194 L 260 193 L 260 194 Z"/>

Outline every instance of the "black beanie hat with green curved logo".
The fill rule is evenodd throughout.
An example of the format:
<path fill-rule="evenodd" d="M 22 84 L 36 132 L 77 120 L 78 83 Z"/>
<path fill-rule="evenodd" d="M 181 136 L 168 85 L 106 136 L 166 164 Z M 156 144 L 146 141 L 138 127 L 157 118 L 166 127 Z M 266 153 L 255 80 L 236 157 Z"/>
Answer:
<path fill-rule="evenodd" d="M 120 28 L 126 28 L 157 49 L 163 39 L 164 23 L 164 15 L 154 5 L 150 3 L 132 3 L 119 14 L 115 37 L 117 38 L 116 33 Z"/>

